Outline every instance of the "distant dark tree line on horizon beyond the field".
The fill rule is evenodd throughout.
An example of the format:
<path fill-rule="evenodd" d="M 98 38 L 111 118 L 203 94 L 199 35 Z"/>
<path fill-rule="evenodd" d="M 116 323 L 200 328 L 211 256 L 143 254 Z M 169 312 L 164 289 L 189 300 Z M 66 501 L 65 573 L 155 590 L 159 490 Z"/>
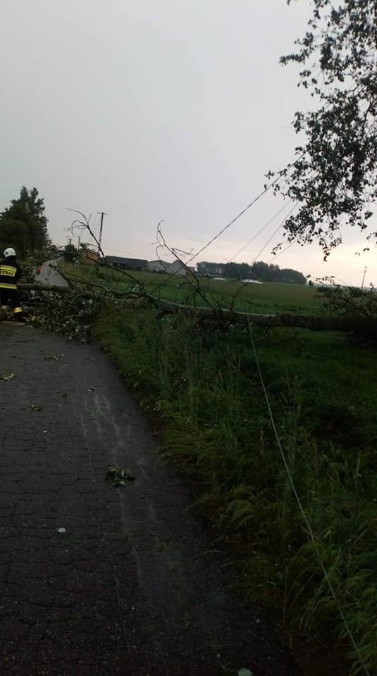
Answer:
<path fill-rule="evenodd" d="M 233 280 L 257 280 L 258 282 L 281 282 L 283 284 L 306 284 L 307 278 L 298 270 L 279 268 L 263 261 L 249 263 L 209 263 L 197 264 L 199 275 L 227 277 Z"/>

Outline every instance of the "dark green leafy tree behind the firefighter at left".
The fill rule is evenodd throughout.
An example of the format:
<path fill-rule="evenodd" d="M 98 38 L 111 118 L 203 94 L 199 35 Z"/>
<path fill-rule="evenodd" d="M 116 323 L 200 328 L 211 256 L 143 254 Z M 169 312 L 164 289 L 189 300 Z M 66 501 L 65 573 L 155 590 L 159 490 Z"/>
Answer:
<path fill-rule="evenodd" d="M 11 206 L 0 213 L 0 254 L 13 246 L 18 256 L 24 258 L 49 244 L 44 200 L 37 188 L 27 190 L 23 186 L 18 199 L 12 199 Z"/>

